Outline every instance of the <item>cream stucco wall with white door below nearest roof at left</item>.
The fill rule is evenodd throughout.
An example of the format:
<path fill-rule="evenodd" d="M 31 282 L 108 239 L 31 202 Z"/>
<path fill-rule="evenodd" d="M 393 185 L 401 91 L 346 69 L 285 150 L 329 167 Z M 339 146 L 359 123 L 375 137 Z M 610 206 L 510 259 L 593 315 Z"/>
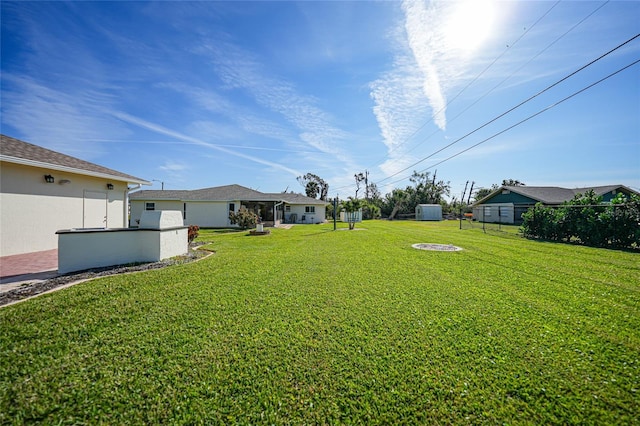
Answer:
<path fill-rule="evenodd" d="M 54 183 L 45 182 L 48 174 Z M 7 162 L 0 182 L 0 256 L 55 249 L 60 229 L 127 226 L 126 182 Z"/>

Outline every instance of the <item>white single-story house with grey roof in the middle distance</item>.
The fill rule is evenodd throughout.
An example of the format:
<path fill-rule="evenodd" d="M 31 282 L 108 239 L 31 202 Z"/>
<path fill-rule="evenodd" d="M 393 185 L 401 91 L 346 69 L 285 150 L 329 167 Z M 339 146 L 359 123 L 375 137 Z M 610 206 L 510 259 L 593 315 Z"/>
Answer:
<path fill-rule="evenodd" d="M 263 193 L 240 185 L 196 190 L 143 190 L 130 195 L 130 226 L 137 226 L 144 210 L 178 210 L 185 225 L 227 228 L 229 212 L 241 206 L 260 216 L 266 226 L 280 223 L 322 223 L 326 201 L 291 193 Z"/>

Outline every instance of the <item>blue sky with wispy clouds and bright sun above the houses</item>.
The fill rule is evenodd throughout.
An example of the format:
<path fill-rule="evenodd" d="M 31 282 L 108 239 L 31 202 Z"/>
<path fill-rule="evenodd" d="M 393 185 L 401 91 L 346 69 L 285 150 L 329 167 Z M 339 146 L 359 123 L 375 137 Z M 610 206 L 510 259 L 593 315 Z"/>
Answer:
<path fill-rule="evenodd" d="M 640 64 L 576 94 L 640 37 L 500 117 L 637 36 L 640 2 L 1 5 L 2 133 L 154 189 L 640 189 Z"/>

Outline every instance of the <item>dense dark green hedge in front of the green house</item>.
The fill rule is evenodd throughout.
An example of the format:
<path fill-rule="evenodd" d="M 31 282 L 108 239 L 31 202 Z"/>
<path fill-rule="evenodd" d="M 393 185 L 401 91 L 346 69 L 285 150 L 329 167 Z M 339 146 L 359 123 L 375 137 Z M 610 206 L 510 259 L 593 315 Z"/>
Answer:
<path fill-rule="evenodd" d="M 525 237 L 593 247 L 640 248 L 640 197 L 618 194 L 611 203 L 593 191 L 560 207 L 536 204 L 522 215 Z"/>

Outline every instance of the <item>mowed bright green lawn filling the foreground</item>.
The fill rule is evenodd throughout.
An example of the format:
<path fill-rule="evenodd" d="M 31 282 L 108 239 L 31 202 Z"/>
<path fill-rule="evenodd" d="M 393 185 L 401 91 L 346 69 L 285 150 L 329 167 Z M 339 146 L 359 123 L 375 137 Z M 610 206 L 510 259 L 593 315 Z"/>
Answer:
<path fill-rule="evenodd" d="M 638 423 L 639 254 L 332 228 L 201 231 L 200 262 L 0 309 L 0 422 Z"/>

